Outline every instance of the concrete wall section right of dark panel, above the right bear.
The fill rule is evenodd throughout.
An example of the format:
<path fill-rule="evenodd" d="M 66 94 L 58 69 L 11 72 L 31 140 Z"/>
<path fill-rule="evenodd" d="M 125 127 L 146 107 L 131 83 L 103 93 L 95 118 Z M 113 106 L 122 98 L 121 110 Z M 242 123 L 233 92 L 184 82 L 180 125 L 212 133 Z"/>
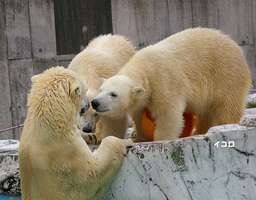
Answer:
<path fill-rule="evenodd" d="M 256 1 L 112 0 L 113 33 L 138 49 L 191 27 L 221 29 L 245 51 L 256 87 Z"/>

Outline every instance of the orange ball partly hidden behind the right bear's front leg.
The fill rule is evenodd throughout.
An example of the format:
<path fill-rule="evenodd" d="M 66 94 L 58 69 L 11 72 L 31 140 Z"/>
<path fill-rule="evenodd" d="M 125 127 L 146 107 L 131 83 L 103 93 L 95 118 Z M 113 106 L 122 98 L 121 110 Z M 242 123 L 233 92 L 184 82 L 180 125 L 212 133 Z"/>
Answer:
<path fill-rule="evenodd" d="M 189 137 L 192 134 L 193 128 L 196 125 L 195 113 L 183 113 L 184 128 L 179 138 Z M 154 119 L 151 117 L 150 110 L 147 108 L 142 114 L 142 130 L 149 142 L 154 141 L 155 124 Z"/>

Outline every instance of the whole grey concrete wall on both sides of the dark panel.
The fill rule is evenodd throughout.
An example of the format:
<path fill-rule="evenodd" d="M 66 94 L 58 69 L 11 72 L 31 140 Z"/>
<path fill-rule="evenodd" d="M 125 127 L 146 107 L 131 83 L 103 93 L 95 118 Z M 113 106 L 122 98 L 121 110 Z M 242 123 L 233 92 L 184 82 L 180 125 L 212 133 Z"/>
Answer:
<path fill-rule="evenodd" d="M 186 28 L 224 31 L 241 45 L 256 88 L 256 1 L 112 0 L 113 33 L 141 49 Z M 53 0 L 0 0 L 0 130 L 24 123 L 30 78 L 75 55 L 57 56 Z M 0 133 L 19 139 L 22 128 Z"/>

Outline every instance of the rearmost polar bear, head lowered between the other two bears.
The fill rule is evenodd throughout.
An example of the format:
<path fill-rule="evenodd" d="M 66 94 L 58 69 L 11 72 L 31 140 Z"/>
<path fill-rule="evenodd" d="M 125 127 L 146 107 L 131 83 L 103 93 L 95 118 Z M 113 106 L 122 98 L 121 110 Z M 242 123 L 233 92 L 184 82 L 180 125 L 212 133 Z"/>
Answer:
<path fill-rule="evenodd" d="M 101 35 L 90 41 L 89 45 L 71 61 L 68 69 L 75 71 L 88 86 L 86 96 L 92 101 L 99 93 L 102 78 L 110 78 L 117 74 L 121 67 L 135 54 L 133 44 L 125 37 L 119 35 Z M 97 130 L 96 130 L 97 124 Z M 109 124 L 112 129 L 109 130 Z M 94 133 L 97 142 L 101 138 L 114 135 L 124 138 L 127 129 L 127 116 L 109 117 L 98 116 L 96 110 L 90 107 L 88 111 L 81 114 L 79 128 L 85 141 L 93 143 Z"/>

